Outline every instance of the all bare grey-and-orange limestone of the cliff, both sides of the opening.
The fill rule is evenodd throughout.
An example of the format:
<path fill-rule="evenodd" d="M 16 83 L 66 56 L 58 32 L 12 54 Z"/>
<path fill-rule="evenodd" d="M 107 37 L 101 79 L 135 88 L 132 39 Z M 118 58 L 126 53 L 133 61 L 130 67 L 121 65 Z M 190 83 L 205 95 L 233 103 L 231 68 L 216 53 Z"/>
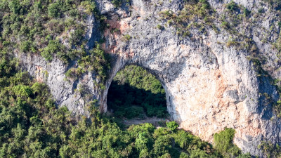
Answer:
<path fill-rule="evenodd" d="M 100 13 L 107 15 L 110 28 L 100 34 L 95 18 L 89 17 L 86 38 L 91 48 L 93 41 L 104 37 L 103 48 L 115 58 L 105 90 L 93 84 L 96 77 L 91 73 L 77 81 L 65 81 L 64 73 L 70 67 L 63 66 L 59 60 L 47 63 L 35 55 L 20 55 L 20 58 L 26 70 L 51 87 L 58 104 L 67 105 L 76 114 L 87 114 L 85 102 L 92 99 L 97 99 L 100 110 L 106 112 L 107 91 L 115 74 L 124 65 L 145 67 L 162 82 L 169 113 L 181 128 L 209 142 L 214 133 L 225 127 L 233 128 L 236 131 L 234 142 L 243 152 L 263 157 L 258 149 L 261 140 L 281 142 L 281 121 L 273 114 L 273 103 L 279 95 L 270 82 L 270 76 L 281 77 L 277 51 L 272 45 L 278 39 L 280 27 L 277 15 L 262 1 L 235 0 L 253 14 L 248 22 L 241 22 L 235 29 L 243 38 L 252 39 L 251 49 L 266 57 L 263 69 L 270 75 L 261 75 L 256 70 L 256 62 L 250 60 L 249 51 L 228 45 L 235 34 L 223 29 L 219 19 L 229 2 L 209 0 L 216 9 L 214 25 L 219 32 L 206 27 L 207 32 L 201 33 L 195 28 L 190 29 L 192 37 L 182 38 L 176 34 L 176 27 L 165 25 L 166 21 L 159 16 L 160 11 L 181 11 L 181 0 L 161 3 L 132 0 L 131 6 L 121 8 L 115 8 L 110 1 L 98 0 Z M 259 14 L 260 8 L 263 13 Z M 112 32 L 112 29 L 119 32 Z M 126 34 L 131 38 L 124 39 Z M 88 87 L 90 99 L 74 91 L 79 84 Z"/>

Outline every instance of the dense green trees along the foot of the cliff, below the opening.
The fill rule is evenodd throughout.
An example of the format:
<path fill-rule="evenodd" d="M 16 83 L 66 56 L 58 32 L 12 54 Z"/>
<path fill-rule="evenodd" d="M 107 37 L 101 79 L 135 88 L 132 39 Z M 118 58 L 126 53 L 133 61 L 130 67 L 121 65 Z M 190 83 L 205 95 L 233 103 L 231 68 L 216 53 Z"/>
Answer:
<path fill-rule="evenodd" d="M 67 107 L 55 107 L 46 84 L 21 72 L 17 62 L 3 50 L 0 85 L 0 157 L 228 157 L 240 154 L 232 144 L 234 130 L 218 140 L 218 150 L 215 150 L 200 138 L 177 130 L 178 124 L 174 121 L 159 129 L 152 124 L 141 124 L 122 130 L 115 119 L 101 115 L 95 103 L 89 107 L 91 120 L 82 117 L 76 121 Z"/>

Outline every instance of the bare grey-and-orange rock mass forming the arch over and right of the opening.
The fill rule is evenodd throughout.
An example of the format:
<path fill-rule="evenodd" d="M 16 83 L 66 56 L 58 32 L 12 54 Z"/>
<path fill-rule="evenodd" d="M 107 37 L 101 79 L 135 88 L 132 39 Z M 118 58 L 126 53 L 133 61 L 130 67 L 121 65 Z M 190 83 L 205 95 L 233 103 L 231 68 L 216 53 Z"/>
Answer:
<path fill-rule="evenodd" d="M 226 32 L 217 34 L 209 29 L 207 35 L 181 39 L 175 36 L 174 27 L 157 29 L 157 22 L 161 21 L 154 18 L 157 13 L 145 3 L 132 1 L 129 17 L 124 16 L 126 11 L 123 15 L 112 15 L 107 10 L 110 11 L 107 22 L 112 27 L 105 30 L 104 49 L 119 54 L 107 87 L 124 65 L 136 64 L 150 70 L 162 82 L 169 113 L 183 129 L 210 142 L 214 133 L 225 127 L 233 128 L 235 144 L 243 152 L 260 156 L 261 140 L 279 143 L 280 121 L 270 121 L 274 118 L 273 105 L 265 106 L 261 95 L 266 93 L 276 101 L 277 91 L 268 78 L 259 77 L 254 63 L 247 58 L 249 53 L 226 47 L 223 44 L 229 40 Z M 166 5 L 163 8 L 172 11 L 181 7 L 176 2 Z M 162 11 L 161 7 L 158 10 Z M 145 18 L 149 14 L 151 19 Z M 121 20 L 117 20 L 118 16 Z M 110 34 L 115 27 L 121 34 L 135 38 L 124 41 L 121 35 Z M 106 107 L 106 102 L 102 102 Z"/>

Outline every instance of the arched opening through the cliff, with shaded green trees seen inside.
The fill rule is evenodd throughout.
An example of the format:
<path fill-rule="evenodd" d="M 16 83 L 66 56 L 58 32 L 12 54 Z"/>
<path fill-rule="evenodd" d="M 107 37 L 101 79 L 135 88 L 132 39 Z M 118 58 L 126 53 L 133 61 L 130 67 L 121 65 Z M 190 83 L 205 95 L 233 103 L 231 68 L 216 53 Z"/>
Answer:
<path fill-rule="evenodd" d="M 169 119 L 161 82 L 137 65 L 117 72 L 107 93 L 107 112 L 120 119 Z"/>

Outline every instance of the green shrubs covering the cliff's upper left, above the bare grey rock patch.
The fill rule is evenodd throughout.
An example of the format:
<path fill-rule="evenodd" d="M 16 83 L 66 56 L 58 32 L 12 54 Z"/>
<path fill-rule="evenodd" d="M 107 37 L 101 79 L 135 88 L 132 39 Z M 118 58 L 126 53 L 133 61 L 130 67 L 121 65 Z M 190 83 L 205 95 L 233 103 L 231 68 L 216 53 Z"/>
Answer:
<path fill-rule="evenodd" d="M 103 24 L 105 16 L 99 14 L 93 0 L 0 1 L 0 46 L 11 53 L 37 53 L 49 62 L 57 56 L 65 65 L 79 59 L 91 62 L 87 67 L 92 68 L 84 66 L 83 73 L 95 71 L 104 81 L 108 58 L 99 46 L 86 48 L 87 19 L 92 14 Z"/>

